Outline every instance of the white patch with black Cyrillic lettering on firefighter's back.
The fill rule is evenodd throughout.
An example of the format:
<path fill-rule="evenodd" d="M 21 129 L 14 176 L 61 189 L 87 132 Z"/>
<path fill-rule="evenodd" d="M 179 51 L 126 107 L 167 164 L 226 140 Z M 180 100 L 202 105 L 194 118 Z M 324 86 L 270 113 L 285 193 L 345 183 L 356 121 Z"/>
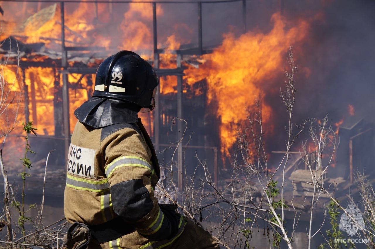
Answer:
<path fill-rule="evenodd" d="M 87 149 L 70 144 L 68 154 L 68 172 L 77 176 L 95 178 L 94 159 L 94 149 Z"/>

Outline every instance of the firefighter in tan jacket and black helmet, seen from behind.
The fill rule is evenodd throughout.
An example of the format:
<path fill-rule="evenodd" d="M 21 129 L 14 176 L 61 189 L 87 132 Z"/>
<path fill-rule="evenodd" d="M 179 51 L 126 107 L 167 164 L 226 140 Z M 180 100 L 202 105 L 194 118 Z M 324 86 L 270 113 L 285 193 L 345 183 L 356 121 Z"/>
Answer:
<path fill-rule="evenodd" d="M 158 204 L 160 168 L 138 112 L 154 108 L 159 80 L 139 55 L 120 51 L 96 72 L 74 115 L 64 213 L 70 248 L 219 248 L 171 205 Z"/>

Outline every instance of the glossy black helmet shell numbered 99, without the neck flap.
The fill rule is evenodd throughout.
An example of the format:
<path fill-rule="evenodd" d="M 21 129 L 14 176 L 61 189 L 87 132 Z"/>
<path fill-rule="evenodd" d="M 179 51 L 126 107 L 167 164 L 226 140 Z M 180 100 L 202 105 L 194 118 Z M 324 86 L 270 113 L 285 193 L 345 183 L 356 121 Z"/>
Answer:
<path fill-rule="evenodd" d="M 127 101 L 152 110 L 157 85 L 159 79 L 147 61 L 134 52 L 120 51 L 99 65 L 93 97 Z"/>

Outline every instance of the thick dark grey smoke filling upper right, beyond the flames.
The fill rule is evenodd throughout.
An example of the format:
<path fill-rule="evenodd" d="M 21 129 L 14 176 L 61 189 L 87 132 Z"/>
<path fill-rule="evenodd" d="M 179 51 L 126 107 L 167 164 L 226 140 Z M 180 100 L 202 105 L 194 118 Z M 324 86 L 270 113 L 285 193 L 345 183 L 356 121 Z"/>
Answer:
<path fill-rule="evenodd" d="M 290 11 L 299 13 L 293 6 Z M 310 39 L 297 58 L 310 72 L 299 79 L 297 116 L 321 118 L 329 113 L 337 120 L 349 116 L 352 105 L 356 115 L 375 121 L 369 115 L 375 107 L 375 2 L 333 1 L 319 11 L 323 20 L 311 24 Z"/>

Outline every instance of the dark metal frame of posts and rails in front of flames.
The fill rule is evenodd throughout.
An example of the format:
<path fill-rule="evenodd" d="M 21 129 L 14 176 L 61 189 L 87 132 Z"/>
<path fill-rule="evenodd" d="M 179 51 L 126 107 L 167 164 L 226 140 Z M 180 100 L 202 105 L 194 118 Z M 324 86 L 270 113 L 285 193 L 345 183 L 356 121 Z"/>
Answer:
<path fill-rule="evenodd" d="M 68 66 L 68 51 L 98 51 L 98 50 L 105 50 L 104 47 L 98 46 L 66 46 L 65 45 L 65 3 L 80 3 L 81 1 L 72 0 L 72 1 L 48 1 L 48 0 L 4 0 L 9 2 L 48 2 L 48 3 L 60 3 L 60 16 L 61 16 L 61 43 L 62 43 L 62 57 L 61 57 L 61 68 L 60 73 L 62 74 L 62 100 L 63 100 L 63 135 L 65 140 L 65 151 L 68 151 L 69 143 L 70 143 L 70 123 L 69 123 L 69 82 L 68 82 L 68 74 L 69 73 L 78 73 L 78 74 L 95 74 L 97 68 L 90 67 L 90 68 L 83 68 L 83 67 L 69 67 Z M 154 69 L 156 70 L 157 75 L 160 76 L 177 76 L 177 116 L 178 118 L 183 118 L 183 68 L 182 68 L 182 57 L 183 55 L 202 55 L 208 54 L 212 52 L 212 49 L 205 49 L 203 47 L 203 29 L 202 29 L 202 4 L 213 4 L 213 3 L 228 3 L 228 2 L 239 2 L 242 1 L 242 21 L 243 21 L 243 32 L 246 32 L 246 0 L 223 0 L 223 1 L 101 1 L 101 0 L 89 0 L 85 1 L 85 3 L 150 3 L 152 4 L 152 14 L 153 14 L 153 55 L 154 55 Z M 160 3 L 189 3 L 189 4 L 196 4 L 197 5 L 197 19 L 198 19 L 198 48 L 191 48 L 191 49 L 178 49 L 168 51 L 170 54 L 177 55 L 177 68 L 175 69 L 160 69 L 160 54 L 165 52 L 164 49 L 157 48 L 157 18 L 156 18 L 156 5 Z M 36 63 L 37 64 L 37 63 Z M 32 63 L 32 66 L 37 66 L 35 63 Z M 31 66 L 31 65 L 30 65 Z M 27 86 L 26 86 L 27 89 Z M 27 91 L 26 91 L 27 94 Z M 26 97 L 26 96 L 25 96 Z M 28 96 L 27 96 L 28 97 Z M 156 103 L 159 103 L 160 98 L 160 87 L 158 86 L 157 93 L 156 93 Z M 25 102 L 26 103 L 26 102 Z M 28 99 L 27 99 L 28 103 Z M 27 108 L 26 108 L 27 109 Z M 28 111 L 28 110 L 27 110 Z M 35 113 L 35 112 L 33 112 Z M 27 113 L 26 113 L 27 114 Z M 27 117 L 28 119 L 28 117 Z M 182 122 L 178 122 L 177 124 L 177 140 L 182 140 Z M 160 137 L 159 137 L 159 130 L 160 130 L 160 108 L 156 104 L 154 109 L 154 145 L 156 151 L 160 150 L 160 146 L 165 146 L 160 144 Z M 178 143 L 177 148 L 177 168 L 178 168 L 178 187 L 182 189 L 183 186 L 183 161 L 182 161 L 182 143 Z M 168 145 L 171 146 L 171 145 Z M 213 149 L 214 151 L 214 182 L 217 184 L 217 147 L 207 147 L 207 146 L 185 146 L 186 148 L 200 148 L 200 149 Z"/>

